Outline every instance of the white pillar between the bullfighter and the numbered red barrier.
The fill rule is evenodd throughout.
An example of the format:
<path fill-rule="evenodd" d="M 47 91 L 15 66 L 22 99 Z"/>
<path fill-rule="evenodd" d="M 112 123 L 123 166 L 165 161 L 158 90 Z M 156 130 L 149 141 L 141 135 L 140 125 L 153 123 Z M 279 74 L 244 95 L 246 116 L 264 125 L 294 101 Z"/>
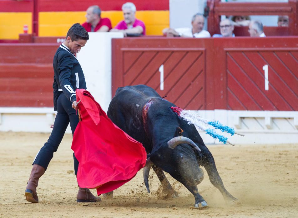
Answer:
<path fill-rule="evenodd" d="M 112 100 L 112 38 L 123 38 L 123 33 L 90 32 L 89 40 L 77 54 L 87 90 L 105 112 Z"/>

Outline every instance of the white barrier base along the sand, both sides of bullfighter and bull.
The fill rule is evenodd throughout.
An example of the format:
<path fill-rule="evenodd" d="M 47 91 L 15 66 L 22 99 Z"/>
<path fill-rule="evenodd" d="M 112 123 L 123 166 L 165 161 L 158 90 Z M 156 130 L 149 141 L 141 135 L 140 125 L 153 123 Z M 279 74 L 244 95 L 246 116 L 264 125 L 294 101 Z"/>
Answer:
<path fill-rule="evenodd" d="M 298 111 L 197 111 L 208 120 L 218 120 L 245 134 L 231 136 L 223 133 L 234 144 L 290 144 L 298 143 Z M 0 131 L 51 132 L 53 108 L 0 107 Z M 219 130 L 216 130 L 220 133 Z M 71 133 L 70 127 L 66 133 Z M 221 144 L 219 140 L 199 131 L 205 144 Z"/>

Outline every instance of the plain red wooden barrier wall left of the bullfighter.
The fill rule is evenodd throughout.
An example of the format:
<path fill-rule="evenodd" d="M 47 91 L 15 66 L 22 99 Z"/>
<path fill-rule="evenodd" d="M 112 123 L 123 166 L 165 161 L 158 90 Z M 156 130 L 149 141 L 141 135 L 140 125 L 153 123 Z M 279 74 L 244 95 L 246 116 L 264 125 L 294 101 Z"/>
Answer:
<path fill-rule="evenodd" d="M 57 44 L 0 44 L 0 107 L 53 107 Z"/>

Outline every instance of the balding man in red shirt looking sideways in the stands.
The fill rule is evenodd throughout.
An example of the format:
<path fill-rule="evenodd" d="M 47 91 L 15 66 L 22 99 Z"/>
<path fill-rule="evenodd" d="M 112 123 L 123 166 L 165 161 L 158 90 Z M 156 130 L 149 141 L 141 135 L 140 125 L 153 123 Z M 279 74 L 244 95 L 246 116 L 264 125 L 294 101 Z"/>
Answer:
<path fill-rule="evenodd" d="M 86 22 L 82 24 L 87 32 L 109 32 L 112 29 L 109 18 L 100 17 L 101 10 L 98 5 L 88 7 L 86 11 Z"/>

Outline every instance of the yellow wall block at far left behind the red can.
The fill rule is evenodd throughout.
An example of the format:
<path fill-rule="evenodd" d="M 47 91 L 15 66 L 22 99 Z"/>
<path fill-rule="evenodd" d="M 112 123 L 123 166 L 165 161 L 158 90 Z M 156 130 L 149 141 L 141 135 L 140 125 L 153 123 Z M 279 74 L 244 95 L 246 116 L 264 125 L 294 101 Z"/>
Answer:
<path fill-rule="evenodd" d="M 0 12 L 0 39 L 19 39 L 24 25 L 28 25 L 28 33 L 32 33 L 31 12 Z"/>

